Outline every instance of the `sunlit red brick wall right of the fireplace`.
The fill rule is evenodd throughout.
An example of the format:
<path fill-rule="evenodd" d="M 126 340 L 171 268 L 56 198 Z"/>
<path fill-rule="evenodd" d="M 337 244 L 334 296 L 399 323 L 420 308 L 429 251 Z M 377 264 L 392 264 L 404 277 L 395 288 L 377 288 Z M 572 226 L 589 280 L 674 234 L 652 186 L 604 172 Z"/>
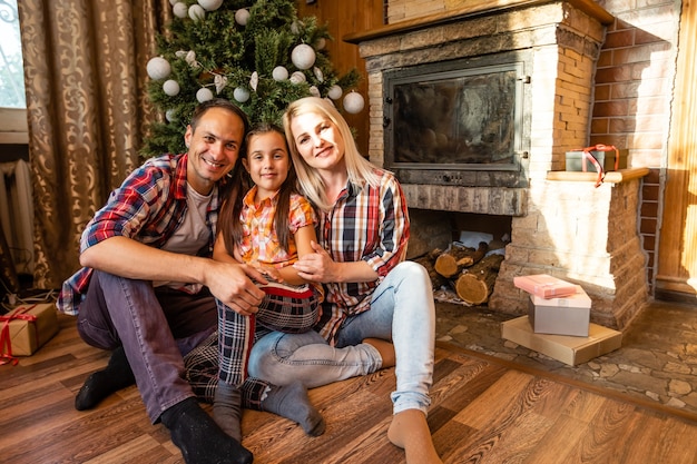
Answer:
<path fill-rule="evenodd" d="M 598 2 L 616 17 L 608 28 L 596 71 L 590 144 L 629 149 L 631 166 L 646 166 L 639 209 L 642 248 L 652 283 L 661 197 L 659 168 L 667 159 L 675 77 L 679 0 Z"/>

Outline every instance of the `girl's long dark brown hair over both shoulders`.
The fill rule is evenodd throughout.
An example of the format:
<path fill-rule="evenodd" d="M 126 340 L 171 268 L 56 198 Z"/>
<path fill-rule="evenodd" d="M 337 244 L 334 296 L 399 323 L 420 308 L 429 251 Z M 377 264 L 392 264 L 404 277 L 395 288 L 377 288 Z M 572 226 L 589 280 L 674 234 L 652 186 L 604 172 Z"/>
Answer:
<path fill-rule="evenodd" d="M 281 247 L 287 251 L 288 250 L 288 241 L 291 240 L 291 230 L 288 227 L 288 216 L 291 214 L 291 196 L 293 194 L 297 194 L 297 176 L 295 175 L 295 168 L 293 166 L 293 161 L 291 158 L 291 151 L 288 150 L 287 142 L 285 140 L 285 132 L 283 129 L 276 125 L 269 122 L 261 122 L 254 126 L 245 137 L 245 147 L 249 147 L 249 140 L 252 137 L 262 136 L 268 132 L 277 132 L 281 138 L 284 140 L 286 145 L 286 151 L 288 154 L 288 162 L 291 164 L 291 169 L 288 170 L 288 176 L 285 181 L 281 186 L 281 190 L 278 191 L 277 198 L 278 203 L 276 205 L 276 213 L 274 215 L 274 228 L 276 229 L 276 236 L 278 237 L 278 243 Z M 245 152 L 245 156 L 248 154 Z M 237 164 L 235 165 L 235 177 L 233 177 L 232 184 L 233 187 L 228 190 L 229 195 L 227 196 L 227 200 L 223 204 L 220 208 L 220 218 L 223 220 L 218 220 L 218 225 L 220 228 L 220 234 L 223 234 L 223 238 L 225 238 L 225 246 L 227 251 L 232 255 L 234 249 L 234 244 L 238 244 L 242 241 L 242 223 L 239 221 L 239 215 L 242 213 L 243 206 L 243 197 L 252 188 L 252 178 L 249 174 L 242 169 L 239 166 L 242 164 L 242 157 L 237 159 Z"/>

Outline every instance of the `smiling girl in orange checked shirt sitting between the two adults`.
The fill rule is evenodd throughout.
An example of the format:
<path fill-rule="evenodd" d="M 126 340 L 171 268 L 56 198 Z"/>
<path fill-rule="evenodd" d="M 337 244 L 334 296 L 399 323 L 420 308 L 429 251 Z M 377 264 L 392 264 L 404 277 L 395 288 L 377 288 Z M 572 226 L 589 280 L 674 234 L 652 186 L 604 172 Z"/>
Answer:
<path fill-rule="evenodd" d="M 213 251 L 215 259 L 234 259 L 253 266 L 269 280 L 259 285 L 266 296 L 256 314 L 217 302 L 219 379 L 213 416 L 225 432 L 238 440 L 242 438 L 240 386 L 247 378 L 247 361 L 255 338 L 272 330 L 310 330 L 320 317 L 323 299 L 322 285 L 308 285 L 293 268 L 298 257 L 313 253 L 316 216 L 296 190 L 283 129 L 261 125 L 249 131 L 246 146 L 247 155 L 240 159 L 254 186 L 244 198 L 233 194 L 223 206 Z M 316 411 L 301 422 L 310 435 L 324 432 L 324 421 Z"/>

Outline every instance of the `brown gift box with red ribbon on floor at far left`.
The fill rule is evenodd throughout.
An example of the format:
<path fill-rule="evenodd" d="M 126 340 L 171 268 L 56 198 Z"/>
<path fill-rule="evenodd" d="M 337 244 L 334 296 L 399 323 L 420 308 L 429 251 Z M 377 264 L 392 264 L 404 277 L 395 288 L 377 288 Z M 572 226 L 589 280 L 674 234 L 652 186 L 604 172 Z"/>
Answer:
<path fill-rule="evenodd" d="M 0 316 L 0 364 L 17 364 L 14 356 L 30 356 L 58 333 L 52 303 L 21 305 Z"/>

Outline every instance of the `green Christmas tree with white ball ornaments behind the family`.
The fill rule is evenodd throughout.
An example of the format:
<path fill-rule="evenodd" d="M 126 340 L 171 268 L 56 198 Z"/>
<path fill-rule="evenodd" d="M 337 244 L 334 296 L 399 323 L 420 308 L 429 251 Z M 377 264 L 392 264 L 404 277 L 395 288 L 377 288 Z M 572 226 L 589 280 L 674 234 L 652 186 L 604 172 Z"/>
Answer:
<path fill-rule="evenodd" d="M 357 71 L 336 75 L 326 26 L 297 18 L 292 0 L 169 2 L 173 21 L 147 63 L 148 97 L 165 118 L 150 125 L 144 157 L 184 151 L 196 105 L 216 97 L 236 102 L 252 124 L 279 124 L 291 101 L 311 95 L 347 112 L 363 109 L 363 97 L 348 91 Z"/>

